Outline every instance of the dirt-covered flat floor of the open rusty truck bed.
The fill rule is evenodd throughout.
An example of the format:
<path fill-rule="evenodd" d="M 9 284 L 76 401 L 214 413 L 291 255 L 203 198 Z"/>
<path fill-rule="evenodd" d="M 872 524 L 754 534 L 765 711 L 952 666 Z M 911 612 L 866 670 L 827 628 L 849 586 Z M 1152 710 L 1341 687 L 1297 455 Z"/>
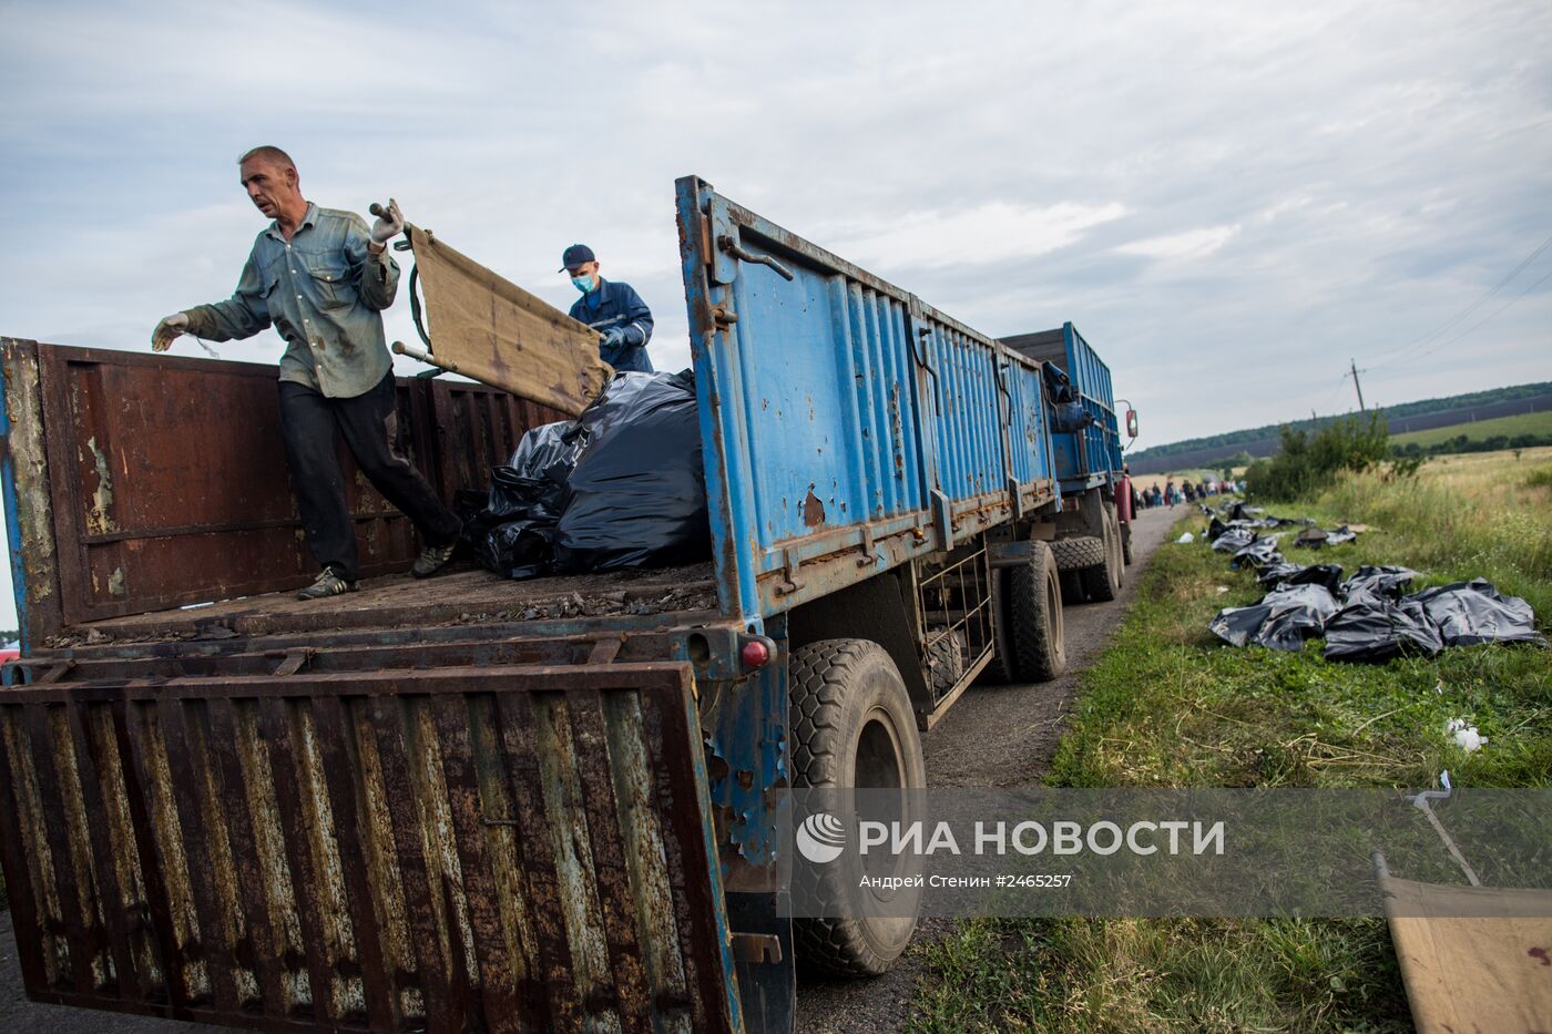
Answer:
<path fill-rule="evenodd" d="M 715 619 L 711 562 L 512 581 L 462 570 L 417 581 L 374 578 L 329 599 L 293 592 L 87 621 L 51 637 L 48 649 L 158 640 L 255 638 L 352 629 L 549 621 L 562 618 L 706 613 Z"/>

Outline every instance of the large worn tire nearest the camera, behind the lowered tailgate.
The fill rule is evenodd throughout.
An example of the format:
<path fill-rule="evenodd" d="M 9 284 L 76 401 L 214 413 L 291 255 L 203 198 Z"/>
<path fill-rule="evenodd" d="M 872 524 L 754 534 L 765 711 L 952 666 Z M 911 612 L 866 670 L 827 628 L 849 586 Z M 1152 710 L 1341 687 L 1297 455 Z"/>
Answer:
<path fill-rule="evenodd" d="M 793 787 L 927 786 L 911 697 L 882 646 L 868 640 L 809 643 L 793 651 L 788 675 Z M 854 916 L 793 921 L 802 969 L 875 977 L 911 942 L 920 888 L 894 891 L 896 914 L 872 914 L 868 896 L 877 891 L 858 887 L 861 866 L 849 851 L 823 866 L 799 865 L 793 874 L 802 893 L 829 905 L 826 911 Z M 917 900 L 900 900 L 899 894 Z M 899 914 L 905 910 L 909 918 Z"/>

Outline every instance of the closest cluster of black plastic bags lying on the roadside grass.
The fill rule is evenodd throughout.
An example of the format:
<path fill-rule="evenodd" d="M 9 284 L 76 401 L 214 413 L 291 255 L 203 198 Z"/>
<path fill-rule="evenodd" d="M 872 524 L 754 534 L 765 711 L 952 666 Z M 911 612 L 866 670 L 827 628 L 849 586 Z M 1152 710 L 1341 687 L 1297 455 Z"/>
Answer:
<path fill-rule="evenodd" d="M 1474 579 L 1406 595 L 1417 576 L 1405 567 L 1361 567 L 1347 581 L 1336 564 L 1273 564 L 1257 581 L 1270 592 L 1249 607 L 1228 607 L 1209 623 L 1232 646 L 1297 651 L 1324 638 L 1327 660 L 1381 663 L 1401 654 L 1432 657 L 1446 646 L 1546 644 L 1524 599 Z"/>

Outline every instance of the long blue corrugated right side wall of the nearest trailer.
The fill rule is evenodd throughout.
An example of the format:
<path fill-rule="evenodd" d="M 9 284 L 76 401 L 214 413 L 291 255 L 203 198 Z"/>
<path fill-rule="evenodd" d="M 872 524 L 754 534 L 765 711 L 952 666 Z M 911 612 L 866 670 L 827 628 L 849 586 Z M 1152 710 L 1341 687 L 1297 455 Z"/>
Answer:
<path fill-rule="evenodd" d="M 723 612 L 765 618 L 1055 498 L 1038 365 L 678 180 Z"/>

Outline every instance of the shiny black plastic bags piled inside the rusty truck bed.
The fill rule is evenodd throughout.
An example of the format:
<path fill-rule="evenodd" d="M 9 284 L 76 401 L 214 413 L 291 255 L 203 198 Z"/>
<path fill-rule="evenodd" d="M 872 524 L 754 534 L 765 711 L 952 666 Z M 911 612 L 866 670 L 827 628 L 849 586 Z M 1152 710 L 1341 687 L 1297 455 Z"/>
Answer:
<path fill-rule="evenodd" d="M 461 497 L 464 543 L 506 578 L 691 564 L 711 553 L 689 373 L 619 373 L 574 421 L 523 435 Z"/>

